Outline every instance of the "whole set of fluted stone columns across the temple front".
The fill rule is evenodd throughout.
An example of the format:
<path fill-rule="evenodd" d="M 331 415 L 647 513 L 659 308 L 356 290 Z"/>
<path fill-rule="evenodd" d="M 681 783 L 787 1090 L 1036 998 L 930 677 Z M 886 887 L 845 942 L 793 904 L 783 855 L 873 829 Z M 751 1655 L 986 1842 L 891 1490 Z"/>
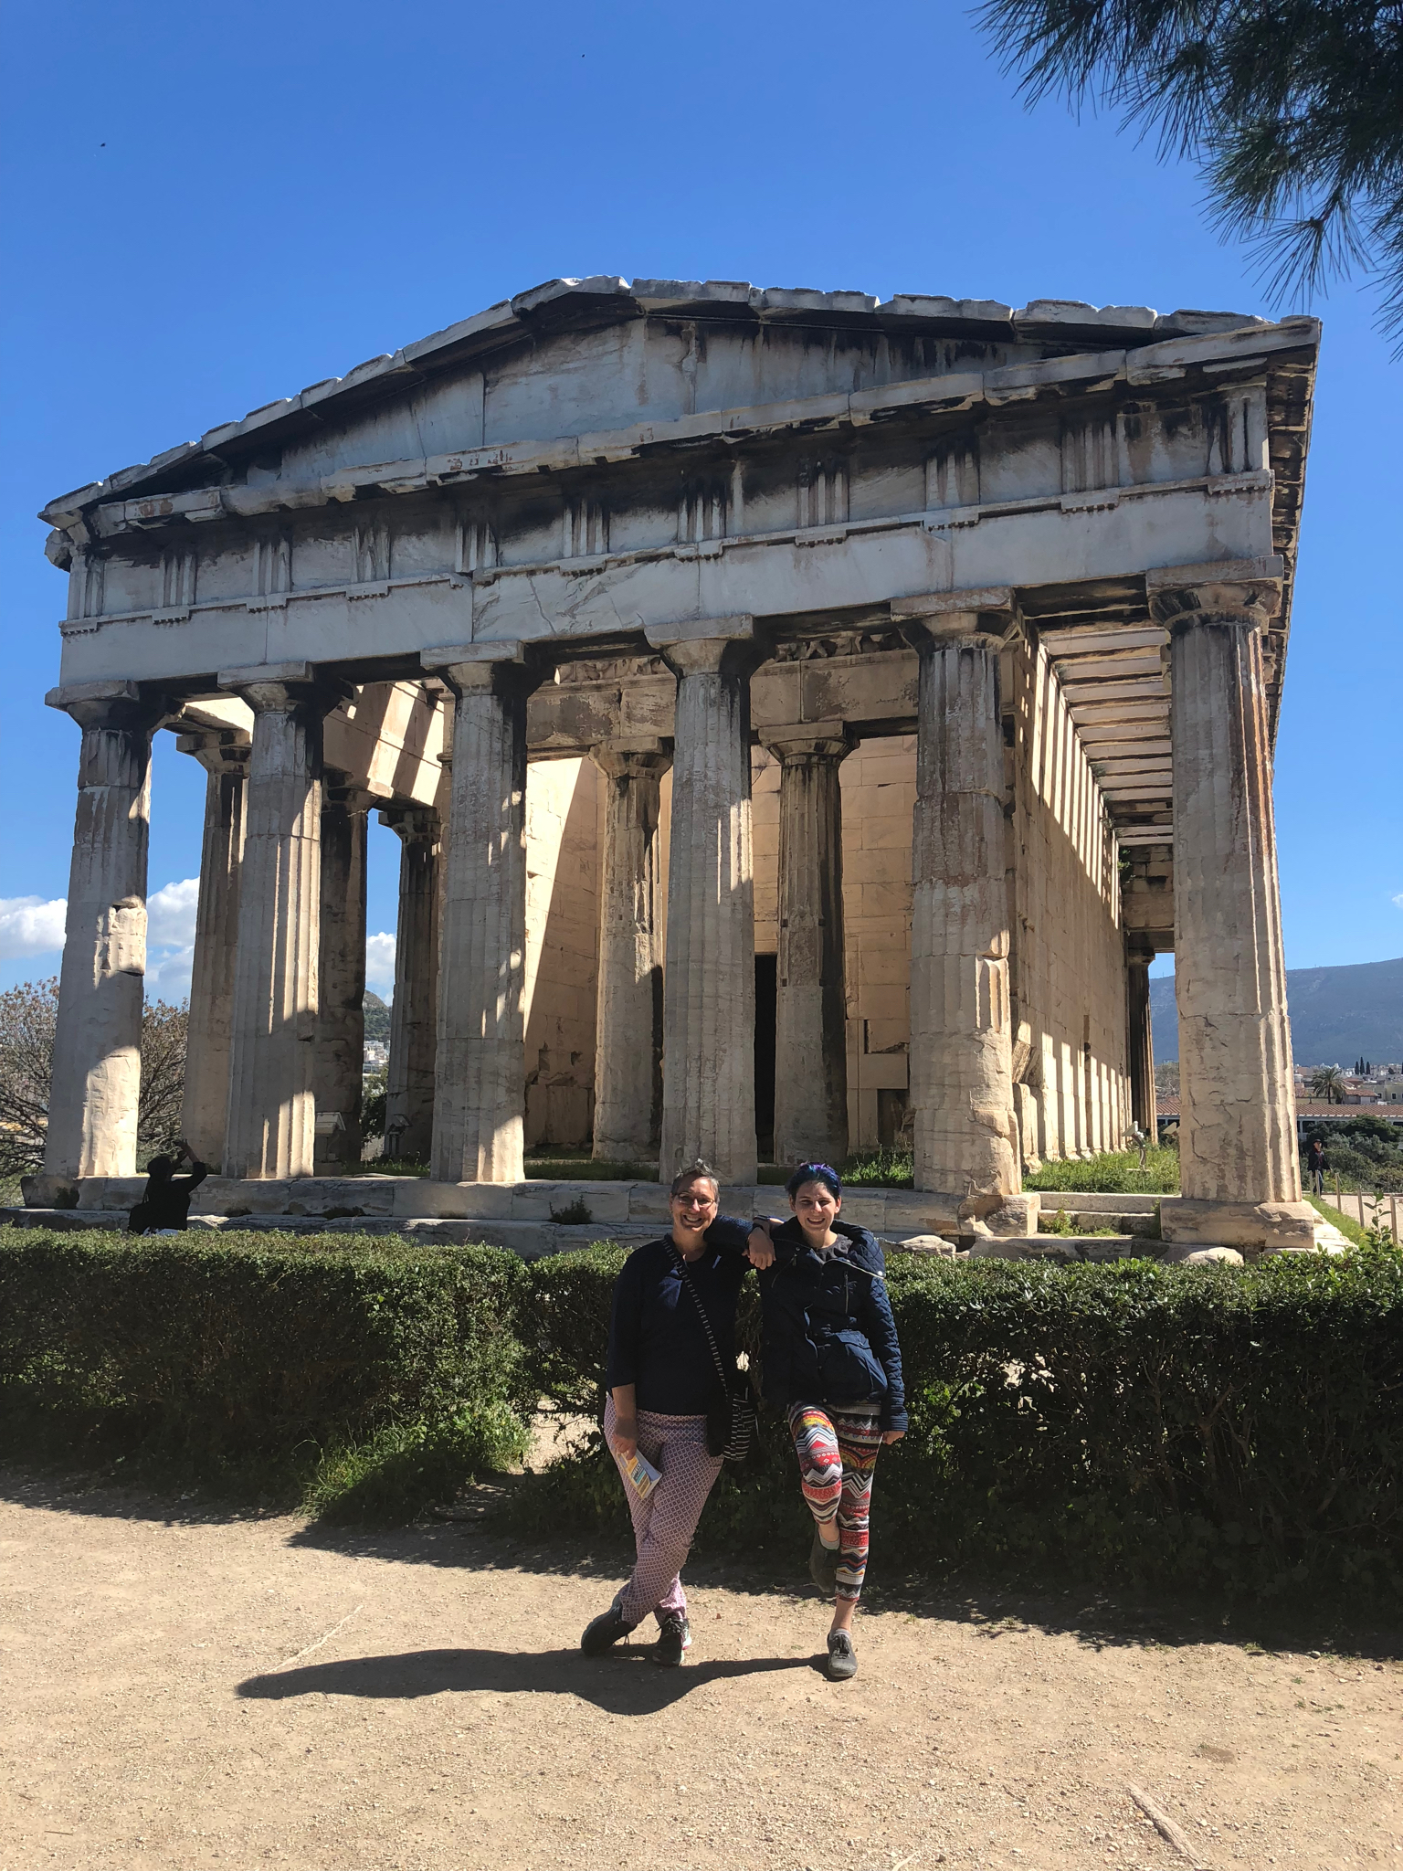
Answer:
<path fill-rule="evenodd" d="M 1295 1199 L 1265 610 L 1255 587 L 1231 584 L 1160 580 L 1152 602 L 1171 631 L 1184 1194 Z M 990 1203 L 1020 1181 L 999 705 L 1008 604 L 1008 593 L 894 604 L 920 653 L 917 1186 Z M 657 848 L 668 752 L 658 743 L 608 745 L 595 756 L 608 788 L 597 1151 L 645 1156 L 660 1134 L 664 1175 L 700 1153 L 746 1182 L 756 1175 L 748 690 L 761 651 L 748 617 L 651 631 L 649 642 L 677 677 L 666 965 L 660 971 Z M 440 827 L 436 814 L 410 808 L 387 814 L 402 838 L 389 1128 L 397 1149 L 427 1143 L 440 1181 L 516 1181 L 526 702 L 542 670 L 513 644 L 441 651 L 434 670 L 455 698 L 449 821 Z M 335 689 L 307 668 L 223 681 L 249 702 L 254 726 L 247 780 L 241 750 L 223 737 L 195 748 L 210 793 L 191 1141 L 215 1128 L 224 1055 L 226 1173 L 307 1175 L 318 1080 L 344 1087 L 340 1102 L 324 1091 L 322 1108 L 340 1117 L 348 1143 L 355 1134 L 359 1154 L 365 812 L 335 791 L 324 799 L 320 730 Z M 129 1173 L 157 715 L 131 685 L 56 700 L 80 720 L 84 745 L 51 1168 Z M 782 763 L 776 1151 L 840 1160 L 847 1096 L 838 767 L 849 739 L 829 722 L 774 732 L 767 745 Z M 327 962 L 327 932 L 337 930 L 337 960 Z M 230 979 L 230 964 L 224 1016 L 210 984 Z M 1145 1070 L 1152 1083 L 1152 1063 Z"/>

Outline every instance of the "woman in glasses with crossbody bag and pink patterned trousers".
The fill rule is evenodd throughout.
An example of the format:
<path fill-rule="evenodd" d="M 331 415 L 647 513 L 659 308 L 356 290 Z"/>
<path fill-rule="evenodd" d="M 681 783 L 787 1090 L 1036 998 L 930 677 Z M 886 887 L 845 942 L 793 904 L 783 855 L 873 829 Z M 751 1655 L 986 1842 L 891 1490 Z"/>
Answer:
<path fill-rule="evenodd" d="M 698 1304 L 733 1370 L 741 1282 L 750 1265 L 774 1259 L 765 1229 L 718 1209 L 711 1169 L 702 1162 L 683 1169 L 672 1184 L 672 1233 L 630 1254 L 614 1287 L 604 1437 L 629 1499 L 638 1562 L 580 1639 L 586 1656 L 604 1656 L 649 1611 L 658 1620 L 655 1663 L 675 1667 L 692 1645 L 681 1568 L 722 1463 L 707 1454 L 707 1407 L 720 1379 Z M 625 1469 L 634 1452 L 662 1471 L 642 1497 Z"/>

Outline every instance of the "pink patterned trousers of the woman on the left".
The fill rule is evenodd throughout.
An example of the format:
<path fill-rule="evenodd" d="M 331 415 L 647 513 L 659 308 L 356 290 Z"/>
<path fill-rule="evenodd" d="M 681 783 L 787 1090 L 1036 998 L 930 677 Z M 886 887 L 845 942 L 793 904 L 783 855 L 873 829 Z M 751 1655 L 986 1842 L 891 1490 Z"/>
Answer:
<path fill-rule="evenodd" d="M 615 1422 L 614 1398 L 608 1398 L 604 1403 L 606 1437 L 614 1433 Z M 651 1495 L 640 1501 L 619 1467 L 619 1458 L 614 1456 L 638 1547 L 638 1564 L 614 1603 L 630 1624 L 642 1624 L 649 1611 L 655 1611 L 658 1624 L 662 1624 L 670 1611 L 687 1615 L 681 1570 L 692 1545 L 696 1523 L 702 1519 L 702 1508 L 720 1474 L 722 1458 L 707 1454 L 705 1416 L 658 1416 L 647 1409 L 638 1411 L 638 1452 L 647 1456 L 655 1469 L 662 1469 L 662 1480 Z M 610 1444 L 610 1454 L 614 1454 L 614 1444 Z"/>

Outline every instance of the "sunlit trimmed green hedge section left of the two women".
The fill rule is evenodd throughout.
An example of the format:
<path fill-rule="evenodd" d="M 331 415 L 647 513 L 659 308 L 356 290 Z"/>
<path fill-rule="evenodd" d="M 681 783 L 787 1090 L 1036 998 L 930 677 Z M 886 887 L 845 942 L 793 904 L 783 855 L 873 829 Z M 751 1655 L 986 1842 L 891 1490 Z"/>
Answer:
<path fill-rule="evenodd" d="M 0 1437 L 393 1517 L 524 1450 L 524 1287 L 398 1237 L 0 1227 Z"/>

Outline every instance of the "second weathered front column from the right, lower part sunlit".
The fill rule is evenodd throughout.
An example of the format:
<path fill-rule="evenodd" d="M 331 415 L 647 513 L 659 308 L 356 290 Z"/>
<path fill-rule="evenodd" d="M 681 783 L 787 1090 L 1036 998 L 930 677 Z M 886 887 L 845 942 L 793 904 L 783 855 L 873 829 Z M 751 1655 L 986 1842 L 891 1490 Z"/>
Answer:
<path fill-rule="evenodd" d="M 1021 1186 L 999 722 L 1010 597 L 954 593 L 924 602 L 930 612 L 911 629 L 920 653 L 911 836 L 915 1184 L 945 1190 L 978 1216 L 980 1205 L 993 1209 Z"/>

